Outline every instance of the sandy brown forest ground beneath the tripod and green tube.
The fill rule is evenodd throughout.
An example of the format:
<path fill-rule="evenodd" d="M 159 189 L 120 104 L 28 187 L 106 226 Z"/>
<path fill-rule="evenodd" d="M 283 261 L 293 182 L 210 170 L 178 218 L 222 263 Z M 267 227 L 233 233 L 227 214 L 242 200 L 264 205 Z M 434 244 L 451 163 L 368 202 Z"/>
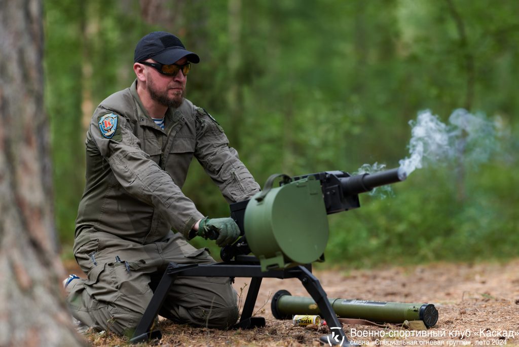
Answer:
<path fill-rule="evenodd" d="M 361 345 L 519 345 L 519 259 L 507 263 L 450 264 L 390 267 L 377 270 L 315 271 L 329 298 L 432 303 L 438 323 L 427 331 L 401 326 L 380 328 L 344 325 L 348 338 Z M 244 301 L 249 278 L 236 278 Z M 247 286 L 245 286 L 247 284 Z M 240 288 L 245 288 L 241 290 Z M 264 328 L 221 331 L 160 323 L 163 338 L 144 345 L 319 345 L 326 327 L 295 327 L 272 316 L 270 298 L 280 289 L 308 296 L 297 279 L 263 279 L 256 315 Z M 414 334 L 414 335 L 413 335 Z M 424 334 L 416 336 L 417 334 Z M 121 345 L 127 339 L 90 331 L 92 345 Z"/>

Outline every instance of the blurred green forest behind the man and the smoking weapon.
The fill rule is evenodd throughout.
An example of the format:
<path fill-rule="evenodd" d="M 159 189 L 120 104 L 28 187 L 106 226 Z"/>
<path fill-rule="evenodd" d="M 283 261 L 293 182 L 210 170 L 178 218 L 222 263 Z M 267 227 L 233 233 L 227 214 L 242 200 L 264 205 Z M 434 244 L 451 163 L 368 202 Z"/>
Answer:
<path fill-rule="evenodd" d="M 328 263 L 517 257 L 518 13 L 519 2 L 490 0 L 45 1 L 63 257 L 84 189 L 87 124 L 104 98 L 130 86 L 135 44 L 154 30 L 200 56 L 187 98 L 226 129 L 261 185 L 277 172 L 398 167 L 420 111 L 447 123 L 463 108 L 492 124 L 455 159 L 435 158 L 389 196 L 363 194 L 362 208 L 330 216 Z M 228 216 L 196 161 L 183 191 L 204 215 Z M 194 242 L 217 258 L 213 243 Z"/>

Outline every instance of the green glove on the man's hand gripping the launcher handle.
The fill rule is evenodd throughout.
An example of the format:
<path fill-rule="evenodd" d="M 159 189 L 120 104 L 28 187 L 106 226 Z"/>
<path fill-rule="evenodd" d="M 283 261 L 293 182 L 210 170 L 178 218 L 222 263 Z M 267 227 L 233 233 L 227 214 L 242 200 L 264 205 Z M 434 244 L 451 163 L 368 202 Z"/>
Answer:
<path fill-rule="evenodd" d="M 240 236 L 240 228 L 232 218 L 214 218 L 206 217 L 198 224 L 198 236 L 216 239 L 216 245 L 223 247 L 233 243 Z"/>

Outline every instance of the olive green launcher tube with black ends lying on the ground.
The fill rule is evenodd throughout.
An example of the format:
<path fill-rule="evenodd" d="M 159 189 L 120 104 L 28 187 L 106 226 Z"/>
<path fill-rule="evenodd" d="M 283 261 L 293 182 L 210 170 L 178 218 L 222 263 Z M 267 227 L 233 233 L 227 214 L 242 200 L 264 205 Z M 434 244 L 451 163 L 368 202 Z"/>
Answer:
<path fill-rule="evenodd" d="M 438 322 L 438 310 L 433 304 L 381 302 L 347 299 L 328 299 L 340 318 L 359 318 L 371 322 L 403 323 L 423 321 L 426 327 Z M 272 315 L 277 319 L 291 319 L 295 314 L 320 314 L 312 298 L 294 297 L 286 290 L 279 290 L 271 303 Z"/>

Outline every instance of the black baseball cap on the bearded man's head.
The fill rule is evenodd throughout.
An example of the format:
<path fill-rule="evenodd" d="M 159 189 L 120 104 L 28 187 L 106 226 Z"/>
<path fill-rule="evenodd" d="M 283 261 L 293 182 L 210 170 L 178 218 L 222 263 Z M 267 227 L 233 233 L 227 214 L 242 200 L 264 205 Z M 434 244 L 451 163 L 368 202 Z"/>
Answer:
<path fill-rule="evenodd" d="M 154 31 L 141 38 L 137 43 L 134 62 L 138 63 L 152 58 L 161 64 L 173 64 L 184 57 L 195 64 L 200 62 L 200 58 L 186 50 L 178 37 L 165 31 Z"/>

